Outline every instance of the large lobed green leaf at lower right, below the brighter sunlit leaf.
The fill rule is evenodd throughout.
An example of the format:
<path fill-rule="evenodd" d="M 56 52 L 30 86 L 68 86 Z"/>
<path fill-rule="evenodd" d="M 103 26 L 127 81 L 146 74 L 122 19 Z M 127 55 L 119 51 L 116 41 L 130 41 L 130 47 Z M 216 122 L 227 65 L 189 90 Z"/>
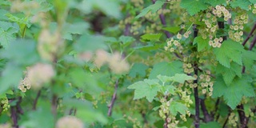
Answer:
<path fill-rule="evenodd" d="M 226 86 L 222 77 L 218 77 L 214 82 L 214 92 L 212 97 L 217 98 L 223 96 L 227 105 L 232 110 L 241 102 L 242 96 L 254 97 L 254 88 L 251 86 L 252 79 L 243 75 L 242 78 L 235 78 L 230 86 Z"/>

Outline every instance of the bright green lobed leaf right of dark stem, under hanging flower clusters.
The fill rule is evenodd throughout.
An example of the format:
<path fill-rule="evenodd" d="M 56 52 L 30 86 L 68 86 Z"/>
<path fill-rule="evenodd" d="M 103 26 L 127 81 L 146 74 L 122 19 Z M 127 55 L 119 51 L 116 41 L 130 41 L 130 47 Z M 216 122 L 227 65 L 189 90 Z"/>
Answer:
<path fill-rule="evenodd" d="M 215 48 L 214 54 L 220 64 L 230 68 L 230 60 L 242 66 L 242 51 L 243 46 L 241 44 L 229 39 L 222 42 L 220 48 Z"/>

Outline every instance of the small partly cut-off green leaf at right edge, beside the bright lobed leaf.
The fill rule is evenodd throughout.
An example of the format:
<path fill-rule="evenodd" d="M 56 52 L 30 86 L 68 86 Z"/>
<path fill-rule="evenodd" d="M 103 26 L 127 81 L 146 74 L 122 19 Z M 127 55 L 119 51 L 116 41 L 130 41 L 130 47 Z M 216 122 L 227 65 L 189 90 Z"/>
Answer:
<path fill-rule="evenodd" d="M 246 70 L 250 70 L 256 61 L 256 54 L 252 51 L 245 50 L 242 52 L 242 63 L 246 66 Z"/>

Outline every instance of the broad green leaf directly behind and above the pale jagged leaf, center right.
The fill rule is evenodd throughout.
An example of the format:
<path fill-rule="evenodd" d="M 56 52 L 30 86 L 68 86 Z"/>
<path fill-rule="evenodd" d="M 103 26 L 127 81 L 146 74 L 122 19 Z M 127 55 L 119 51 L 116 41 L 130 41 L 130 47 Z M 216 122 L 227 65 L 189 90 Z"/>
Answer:
<path fill-rule="evenodd" d="M 154 65 L 150 72 L 149 78 L 157 78 L 159 74 L 166 76 L 174 76 L 175 74 L 182 74 L 182 62 L 159 62 Z"/>

